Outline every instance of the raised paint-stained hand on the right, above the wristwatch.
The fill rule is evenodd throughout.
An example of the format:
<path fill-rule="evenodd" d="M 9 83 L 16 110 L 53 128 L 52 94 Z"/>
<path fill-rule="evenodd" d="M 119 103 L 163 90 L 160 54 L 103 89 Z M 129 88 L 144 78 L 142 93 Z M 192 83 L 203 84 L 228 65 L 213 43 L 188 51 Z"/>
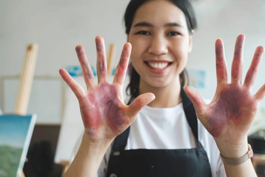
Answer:
<path fill-rule="evenodd" d="M 242 79 L 244 34 L 237 37 L 231 69 L 231 83 L 228 83 L 224 45 L 216 40 L 217 89 L 213 101 L 205 104 L 200 93 L 194 87 L 186 86 L 198 119 L 214 137 L 221 154 L 228 158 L 237 158 L 246 153 L 247 134 L 258 110 L 259 102 L 265 96 L 265 84 L 254 94 L 254 83 L 258 65 L 264 48 L 256 48 L 244 83 Z"/>

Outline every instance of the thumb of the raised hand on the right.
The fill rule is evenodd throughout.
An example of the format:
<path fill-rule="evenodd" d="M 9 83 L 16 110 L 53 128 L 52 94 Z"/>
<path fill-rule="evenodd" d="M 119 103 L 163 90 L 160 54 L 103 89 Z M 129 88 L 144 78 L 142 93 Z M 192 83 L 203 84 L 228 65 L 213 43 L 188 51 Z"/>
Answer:
<path fill-rule="evenodd" d="M 205 103 L 201 94 L 192 86 L 185 86 L 184 91 L 190 98 L 197 115 L 201 115 L 204 112 Z"/>

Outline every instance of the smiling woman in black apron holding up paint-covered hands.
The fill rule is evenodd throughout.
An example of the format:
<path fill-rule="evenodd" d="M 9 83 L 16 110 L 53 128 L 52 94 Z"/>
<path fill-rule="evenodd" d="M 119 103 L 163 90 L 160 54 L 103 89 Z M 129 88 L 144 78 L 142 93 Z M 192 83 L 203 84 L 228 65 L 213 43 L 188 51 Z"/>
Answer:
<path fill-rule="evenodd" d="M 106 81 L 100 36 L 98 84 L 82 46 L 76 52 L 87 92 L 60 69 L 78 98 L 85 129 L 65 176 L 255 176 L 247 132 L 265 95 L 265 85 L 250 93 L 263 47 L 256 48 L 241 84 L 244 35 L 238 35 L 228 83 L 223 42 L 217 39 L 217 90 L 206 104 L 193 87 L 183 89 L 196 27 L 188 1 L 132 0 L 125 25 L 128 42 L 112 84 Z M 127 106 L 122 91 L 129 58 Z"/>

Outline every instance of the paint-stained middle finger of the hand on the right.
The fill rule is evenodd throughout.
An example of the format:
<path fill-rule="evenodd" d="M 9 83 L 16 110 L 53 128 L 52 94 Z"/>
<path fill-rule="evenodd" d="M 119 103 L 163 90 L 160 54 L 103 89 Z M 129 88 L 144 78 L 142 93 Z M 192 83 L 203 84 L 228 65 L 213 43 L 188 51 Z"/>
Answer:
<path fill-rule="evenodd" d="M 241 83 L 242 80 L 244 41 L 245 35 L 239 34 L 236 39 L 234 58 L 231 66 L 231 82 Z"/>

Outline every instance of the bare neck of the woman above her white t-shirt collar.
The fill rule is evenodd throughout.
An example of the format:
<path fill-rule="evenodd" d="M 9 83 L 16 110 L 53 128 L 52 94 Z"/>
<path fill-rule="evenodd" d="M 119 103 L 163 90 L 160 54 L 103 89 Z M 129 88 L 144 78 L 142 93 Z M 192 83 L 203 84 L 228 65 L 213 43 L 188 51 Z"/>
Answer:
<path fill-rule="evenodd" d="M 154 108 L 169 108 L 177 106 L 181 102 L 180 96 L 181 85 L 180 82 L 166 85 L 164 87 L 153 87 L 150 85 L 139 85 L 139 93 L 151 92 L 155 95 L 155 99 L 148 104 Z"/>

